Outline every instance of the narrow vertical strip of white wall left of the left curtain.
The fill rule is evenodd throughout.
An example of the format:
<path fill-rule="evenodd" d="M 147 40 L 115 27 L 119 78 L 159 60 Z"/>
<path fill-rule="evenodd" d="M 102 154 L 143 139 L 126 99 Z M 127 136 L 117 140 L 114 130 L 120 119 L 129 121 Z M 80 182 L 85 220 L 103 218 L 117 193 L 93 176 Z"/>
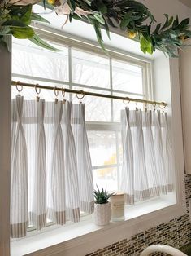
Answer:
<path fill-rule="evenodd" d="M 3 46 L 0 46 L 0 81 L 0 255 L 8 256 L 10 254 L 11 53 Z"/>

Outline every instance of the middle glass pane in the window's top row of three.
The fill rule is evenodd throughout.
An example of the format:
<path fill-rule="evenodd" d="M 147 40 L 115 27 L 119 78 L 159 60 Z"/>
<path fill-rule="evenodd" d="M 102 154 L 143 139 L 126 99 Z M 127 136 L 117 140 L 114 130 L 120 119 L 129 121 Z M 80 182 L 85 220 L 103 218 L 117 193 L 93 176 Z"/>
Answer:
<path fill-rule="evenodd" d="M 110 88 L 109 59 L 72 50 L 72 82 Z"/>

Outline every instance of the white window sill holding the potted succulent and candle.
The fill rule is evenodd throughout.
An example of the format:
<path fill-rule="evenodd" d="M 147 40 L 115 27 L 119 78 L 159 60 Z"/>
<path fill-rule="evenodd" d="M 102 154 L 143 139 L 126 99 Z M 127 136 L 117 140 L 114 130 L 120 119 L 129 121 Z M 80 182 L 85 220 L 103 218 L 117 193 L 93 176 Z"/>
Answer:
<path fill-rule="evenodd" d="M 182 206 L 174 202 L 160 198 L 145 201 L 126 207 L 125 221 L 111 222 L 106 227 L 96 226 L 91 216 L 85 216 L 80 223 L 68 223 L 64 227 L 54 225 L 41 232 L 28 232 L 27 237 L 11 241 L 11 256 L 63 253 L 66 256 L 84 256 L 182 214 Z"/>

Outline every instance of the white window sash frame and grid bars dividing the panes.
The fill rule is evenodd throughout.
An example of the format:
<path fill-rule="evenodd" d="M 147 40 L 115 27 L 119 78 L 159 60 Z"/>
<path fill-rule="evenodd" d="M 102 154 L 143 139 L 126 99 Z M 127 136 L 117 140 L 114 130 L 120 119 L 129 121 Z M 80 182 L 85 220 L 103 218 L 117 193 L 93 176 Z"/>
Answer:
<path fill-rule="evenodd" d="M 52 40 L 50 38 L 51 34 L 47 31 L 41 32 L 41 37 L 42 38 L 49 38 L 49 41 Z M 62 44 L 61 44 L 62 40 Z M 67 42 L 65 41 L 65 38 L 61 38 L 60 35 L 57 34 L 57 36 L 54 35 L 54 41 L 51 41 L 54 44 L 62 45 L 67 48 L 68 51 L 68 81 L 59 81 L 55 79 L 50 79 L 50 78 L 42 78 L 42 77 L 34 77 L 34 76 L 29 76 L 29 75 L 24 75 L 24 74 L 17 74 L 17 73 L 12 73 L 12 76 L 14 79 L 29 79 L 29 80 L 34 80 L 37 82 L 53 82 L 55 84 L 58 84 L 58 86 L 62 85 L 67 85 L 70 89 L 73 89 L 73 87 L 79 88 L 79 90 L 85 90 L 85 89 L 93 89 L 93 90 L 103 90 L 106 92 L 106 94 L 110 95 L 115 95 L 115 94 L 121 94 L 121 95 L 127 95 L 132 98 L 137 98 L 141 96 L 143 99 L 153 99 L 153 90 L 151 86 L 151 68 L 152 68 L 152 61 L 141 58 L 140 60 L 137 60 L 137 58 L 132 58 L 132 56 L 129 55 L 124 55 L 120 54 L 117 51 L 108 51 L 109 56 L 106 56 L 106 54 L 103 51 L 100 51 L 95 46 L 89 46 L 88 50 L 86 49 L 85 42 L 76 42 L 76 40 L 72 38 L 67 38 Z M 50 43 L 51 43 L 50 42 Z M 28 46 L 16 46 L 18 49 L 22 51 L 22 48 L 28 48 Z M 104 88 L 104 87 L 98 87 L 98 86 L 90 86 L 90 85 L 84 85 L 76 82 L 72 82 L 72 49 L 77 50 L 77 51 L 85 51 L 89 54 L 94 54 L 101 56 L 103 58 L 106 58 L 109 60 L 109 73 L 110 73 L 110 87 Z M 26 49 L 27 51 L 28 49 Z M 34 51 L 41 51 L 40 49 L 34 50 Z M 54 53 L 49 52 L 50 55 L 54 55 Z M 128 92 L 124 90 L 116 90 L 113 88 L 113 80 L 112 80 L 112 70 L 113 70 L 113 65 L 112 61 L 121 61 L 127 64 L 132 64 L 137 67 L 141 68 L 142 72 L 142 93 L 133 93 L 133 92 Z M 69 95 L 70 99 L 72 99 L 72 95 Z M 107 100 L 107 99 L 106 99 Z M 121 163 L 119 163 L 119 151 L 117 150 L 119 148 L 119 131 L 120 131 L 120 125 L 118 122 L 113 121 L 114 118 L 114 113 L 113 113 L 113 99 L 108 99 L 111 102 L 111 121 L 110 122 L 103 122 L 103 121 L 86 121 L 86 128 L 87 130 L 107 130 L 107 131 L 115 131 L 115 136 L 116 136 L 116 157 L 117 157 L 117 162 L 116 164 L 112 165 L 102 165 L 102 166 L 92 166 L 93 170 L 98 170 L 98 169 L 103 169 L 103 168 L 110 168 L 110 167 L 115 167 L 117 169 L 117 185 L 119 188 L 119 168 L 121 166 Z M 33 227 L 29 228 L 28 230 L 33 230 Z"/>

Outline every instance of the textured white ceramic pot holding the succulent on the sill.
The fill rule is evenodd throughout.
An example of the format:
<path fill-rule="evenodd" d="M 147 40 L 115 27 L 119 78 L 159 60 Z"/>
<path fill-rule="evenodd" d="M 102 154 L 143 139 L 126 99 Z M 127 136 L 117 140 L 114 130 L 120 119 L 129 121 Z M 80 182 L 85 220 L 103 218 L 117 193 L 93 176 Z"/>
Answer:
<path fill-rule="evenodd" d="M 94 207 L 94 223 L 98 226 L 105 226 L 111 220 L 111 203 L 95 204 Z"/>

